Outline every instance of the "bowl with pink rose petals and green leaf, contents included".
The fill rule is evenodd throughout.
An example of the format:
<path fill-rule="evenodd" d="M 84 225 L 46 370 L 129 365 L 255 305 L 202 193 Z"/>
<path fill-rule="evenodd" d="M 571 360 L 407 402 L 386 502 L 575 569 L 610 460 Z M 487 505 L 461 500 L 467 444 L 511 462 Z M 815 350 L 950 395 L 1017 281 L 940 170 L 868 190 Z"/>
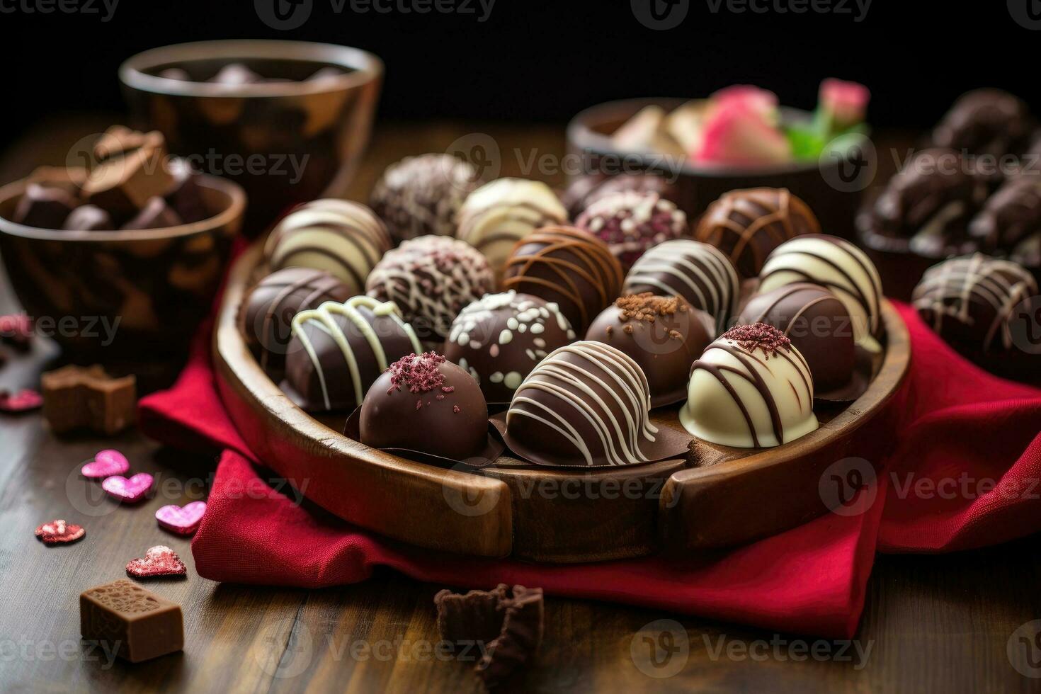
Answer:
<path fill-rule="evenodd" d="M 869 97 L 862 84 L 828 79 L 813 111 L 781 106 L 772 92 L 743 84 L 705 99 L 592 106 L 567 128 L 583 173 L 572 176 L 564 202 L 577 216 L 602 198 L 653 189 L 696 220 L 729 190 L 787 188 L 830 233 L 853 238 L 873 168 Z"/>

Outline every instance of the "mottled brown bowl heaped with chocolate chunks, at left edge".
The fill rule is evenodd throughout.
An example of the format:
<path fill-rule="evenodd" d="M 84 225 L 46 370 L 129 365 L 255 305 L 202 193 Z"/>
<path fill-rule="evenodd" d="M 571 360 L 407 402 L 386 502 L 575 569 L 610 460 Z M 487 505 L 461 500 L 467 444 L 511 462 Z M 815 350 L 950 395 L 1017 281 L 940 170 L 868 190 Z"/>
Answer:
<path fill-rule="evenodd" d="M 25 311 L 77 356 L 182 349 L 210 311 L 246 194 L 113 126 L 0 188 L 0 253 Z M 44 322 L 51 325 L 44 326 Z"/>

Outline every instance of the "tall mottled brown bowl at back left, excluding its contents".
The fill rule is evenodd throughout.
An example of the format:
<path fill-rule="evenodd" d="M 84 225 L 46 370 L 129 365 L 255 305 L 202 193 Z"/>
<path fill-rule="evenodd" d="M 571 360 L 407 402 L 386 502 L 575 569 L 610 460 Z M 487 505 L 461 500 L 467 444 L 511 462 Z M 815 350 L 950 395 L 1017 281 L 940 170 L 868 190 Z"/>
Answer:
<path fill-rule="evenodd" d="M 232 62 L 287 81 L 203 81 Z M 329 67 L 344 74 L 307 81 Z M 169 68 L 199 81 L 158 76 Z M 179 44 L 120 67 L 136 127 L 161 131 L 171 153 L 246 188 L 250 237 L 297 203 L 345 194 L 369 144 L 382 80 L 383 62 L 371 53 L 295 41 Z"/>

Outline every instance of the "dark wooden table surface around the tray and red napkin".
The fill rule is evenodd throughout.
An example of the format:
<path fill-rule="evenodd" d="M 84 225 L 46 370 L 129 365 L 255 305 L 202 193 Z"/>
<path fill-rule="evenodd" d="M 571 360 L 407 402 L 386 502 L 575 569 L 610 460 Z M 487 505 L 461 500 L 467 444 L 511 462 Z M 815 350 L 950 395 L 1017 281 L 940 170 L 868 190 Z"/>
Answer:
<path fill-rule="evenodd" d="M 0 159 L 0 181 L 42 160 L 64 161 L 56 145 L 97 132 L 107 119 L 42 125 Z M 405 154 L 443 151 L 460 135 L 499 143 L 503 175 L 525 173 L 532 155 L 556 155 L 559 127 L 384 125 L 356 181 L 362 198 L 382 168 Z M 515 149 L 514 149 L 515 148 Z M 559 181 L 550 170 L 529 175 Z M 2 310 L 10 310 L 6 289 Z M 0 369 L 0 387 L 32 385 L 53 345 L 37 343 Z M 161 493 L 134 508 L 96 498 L 80 464 L 106 447 L 134 470 L 156 475 Z M 0 691 L 480 691 L 468 664 L 445 662 L 432 597 L 441 586 L 390 571 L 355 586 L 306 591 L 221 585 L 195 573 L 188 541 L 156 526 L 155 510 L 205 497 L 214 461 L 160 448 L 134 431 L 116 438 L 58 439 L 36 414 L 0 418 Z M 46 547 L 32 536 L 44 520 L 87 526 L 84 540 Z M 168 544 L 188 567 L 182 581 L 152 584 L 184 609 L 183 653 L 128 665 L 79 641 L 77 596 L 124 575 L 153 544 Z M 537 691 L 902 691 L 1026 692 L 1041 679 L 1007 656 L 1013 632 L 1041 618 L 1038 538 L 950 556 L 880 557 L 855 646 L 795 660 L 813 638 L 772 634 L 653 610 L 550 597 L 534 667 L 511 689 Z M 446 558 L 451 561 L 451 558 Z M 685 660 L 649 665 L 640 631 L 669 619 L 685 631 Z M 636 645 L 634 646 L 634 640 Z M 636 656 L 634 657 L 634 648 Z M 642 648 L 642 650 L 641 650 Z M 869 651 L 868 651 L 869 649 Z M 842 654 L 840 654 L 842 653 Z M 682 667 L 681 667 L 682 666 Z M 652 675 L 667 674 L 668 677 Z"/>

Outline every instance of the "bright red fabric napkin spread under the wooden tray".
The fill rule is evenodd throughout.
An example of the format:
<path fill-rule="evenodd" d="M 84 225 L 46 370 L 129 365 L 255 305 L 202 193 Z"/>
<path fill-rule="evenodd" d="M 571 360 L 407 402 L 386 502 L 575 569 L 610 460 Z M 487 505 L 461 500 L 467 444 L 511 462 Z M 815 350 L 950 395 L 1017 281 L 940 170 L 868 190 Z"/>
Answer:
<path fill-rule="evenodd" d="M 689 559 L 548 566 L 460 558 L 410 547 L 309 510 L 258 477 L 254 456 L 214 389 L 206 331 L 174 387 L 142 401 L 141 427 L 171 445 L 225 449 L 192 543 L 196 567 L 207 579 L 318 588 L 362 581 L 373 567 L 388 566 L 462 588 L 519 583 L 558 595 L 849 638 L 877 544 L 887 551 L 938 551 L 1041 529 L 1037 502 L 1025 494 L 925 498 L 922 483 L 905 484 L 908 473 L 915 475 L 912 482 L 934 483 L 961 471 L 1037 478 L 1041 391 L 976 369 L 913 311 L 899 309 L 914 357 L 908 384 L 890 411 L 865 427 L 867 435 L 888 436 L 896 446 L 873 504 L 859 515 L 829 514 L 743 547 Z M 902 496 L 894 498 L 895 492 Z"/>

